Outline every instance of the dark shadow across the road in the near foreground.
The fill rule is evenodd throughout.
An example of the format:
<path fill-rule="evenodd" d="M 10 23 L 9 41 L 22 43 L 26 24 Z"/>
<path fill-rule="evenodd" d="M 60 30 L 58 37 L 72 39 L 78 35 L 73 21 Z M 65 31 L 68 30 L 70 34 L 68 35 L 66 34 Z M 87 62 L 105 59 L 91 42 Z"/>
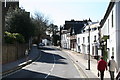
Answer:
<path fill-rule="evenodd" d="M 24 73 L 23 75 L 21 75 L 21 73 Z M 45 80 L 46 76 L 48 74 L 45 73 L 40 73 L 40 72 L 35 72 L 35 71 L 30 71 L 30 70 L 21 70 L 19 72 L 17 72 L 16 74 L 12 74 L 10 76 L 7 76 L 5 78 L 3 78 L 2 80 Z M 53 76 L 53 75 L 49 75 L 47 77 L 47 79 L 57 79 L 57 80 L 69 80 L 69 79 L 65 79 L 65 78 L 61 78 L 61 77 L 57 77 L 57 76 Z"/>

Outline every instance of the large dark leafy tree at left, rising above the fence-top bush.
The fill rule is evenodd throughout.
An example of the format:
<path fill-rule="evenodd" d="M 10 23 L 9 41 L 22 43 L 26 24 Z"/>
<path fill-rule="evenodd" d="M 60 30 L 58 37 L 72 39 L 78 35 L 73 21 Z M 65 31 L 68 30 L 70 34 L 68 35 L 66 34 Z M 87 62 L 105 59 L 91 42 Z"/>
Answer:
<path fill-rule="evenodd" d="M 29 17 L 29 12 L 21 8 L 9 8 L 5 17 L 5 30 L 10 33 L 20 33 L 27 42 L 34 34 L 34 25 Z"/>

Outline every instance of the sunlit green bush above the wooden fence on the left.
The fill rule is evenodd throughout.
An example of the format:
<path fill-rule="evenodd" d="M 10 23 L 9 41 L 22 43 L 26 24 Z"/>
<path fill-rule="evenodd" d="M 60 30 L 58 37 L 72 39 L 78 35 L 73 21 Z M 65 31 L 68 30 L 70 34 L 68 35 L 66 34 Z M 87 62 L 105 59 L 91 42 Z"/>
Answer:
<path fill-rule="evenodd" d="M 5 32 L 5 43 L 13 44 L 14 42 L 24 43 L 25 38 L 19 33 Z"/>

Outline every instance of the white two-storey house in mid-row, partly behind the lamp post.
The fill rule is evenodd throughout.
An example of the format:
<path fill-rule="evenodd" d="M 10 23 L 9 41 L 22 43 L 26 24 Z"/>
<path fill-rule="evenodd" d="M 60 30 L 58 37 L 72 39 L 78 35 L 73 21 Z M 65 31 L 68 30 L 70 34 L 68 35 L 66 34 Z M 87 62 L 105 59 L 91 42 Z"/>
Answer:
<path fill-rule="evenodd" d="M 88 54 L 89 53 L 89 37 L 90 37 L 90 54 L 98 56 L 98 30 L 99 23 L 91 22 L 90 25 L 85 26 L 81 34 L 77 34 L 77 52 Z M 90 28 L 90 34 L 89 34 Z"/>

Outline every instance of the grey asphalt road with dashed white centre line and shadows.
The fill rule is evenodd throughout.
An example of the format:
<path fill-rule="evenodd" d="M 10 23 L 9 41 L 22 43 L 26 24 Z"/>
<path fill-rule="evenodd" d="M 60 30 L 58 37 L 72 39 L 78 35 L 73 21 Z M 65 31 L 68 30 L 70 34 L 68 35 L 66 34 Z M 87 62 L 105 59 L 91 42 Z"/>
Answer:
<path fill-rule="evenodd" d="M 41 57 L 6 78 L 80 78 L 69 56 L 55 48 L 40 49 Z"/>

